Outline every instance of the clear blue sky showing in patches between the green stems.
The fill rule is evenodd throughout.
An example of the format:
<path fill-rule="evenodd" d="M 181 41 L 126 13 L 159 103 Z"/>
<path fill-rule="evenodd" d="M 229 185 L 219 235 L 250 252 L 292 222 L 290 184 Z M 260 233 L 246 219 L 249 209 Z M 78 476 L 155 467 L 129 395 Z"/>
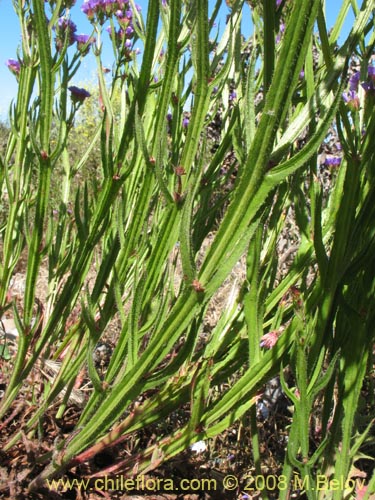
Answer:
<path fill-rule="evenodd" d="M 307 0 L 305 0 L 307 1 Z M 72 9 L 72 18 L 78 27 L 77 33 L 91 33 L 91 25 L 87 21 L 86 16 L 81 13 L 81 5 L 83 0 L 77 0 L 75 7 Z M 138 3 L 142 7 L 142 14 L 145 16 L 147 12 L 147 0 L 138 0 Z M 210 4 L 213 3 L 210 1 Z M 340 9 L 341 2 L 338 0 L 326 0 L 326 15 L 328 19 L 328 25 L 331 27 L 333 25 L 336 15 Z M 222 25 L 225 24 L 225 16 L 228 13 L 227 7 L 224 6 L 221 9 L 220 22 Z M 249 16 L 249 11 L 246 10 L 244 14 L 243 28 L 250 28 L 250 19 L 246 22 L 246 17 Z M 346 21 L 345 32 L 348 32 L 351 27 L 353 17 L 350 15 Z M 0 0 L 0 118 L 4 119 L 7 116 L 7 110 L 11 100 L 16 95 L 17 82 L 15 77 L 10 73 L 5 65 L 5 62 L 9 58 L 16 58 L 17 46 L 20 44 L 20 29 L 18 24 L 17 16 L 13 9 L 12 0 Z M 103 53 L 103 64 L 104 66 L 111 67 L 113 62 L 113 56 L 111 55 L 111 50 L 108 48 L 107 51 Z M 72 83 L 79 84 L 84 80 L 93 80 L 95 74 L 95 62 L 93 57 L 87 56 L 79 73 L 76 75 Z"/>

